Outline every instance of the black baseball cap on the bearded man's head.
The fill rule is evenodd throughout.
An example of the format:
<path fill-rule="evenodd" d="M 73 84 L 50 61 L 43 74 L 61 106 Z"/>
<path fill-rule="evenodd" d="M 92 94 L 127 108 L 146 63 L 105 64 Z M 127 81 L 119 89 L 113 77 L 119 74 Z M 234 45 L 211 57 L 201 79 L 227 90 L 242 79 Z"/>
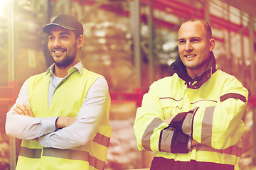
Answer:
<path fill-rule="evenodd" d="M 52 23 L 46 24 L 46 26 L 43 27 L 43 32 L 49 33 L 52 26 L 61 26 L 68 30 L 74 30 L 79 35 L 83 35 L 82 23 L 80 23 L 77 18 L 67 14 L 60 14 Z"/>

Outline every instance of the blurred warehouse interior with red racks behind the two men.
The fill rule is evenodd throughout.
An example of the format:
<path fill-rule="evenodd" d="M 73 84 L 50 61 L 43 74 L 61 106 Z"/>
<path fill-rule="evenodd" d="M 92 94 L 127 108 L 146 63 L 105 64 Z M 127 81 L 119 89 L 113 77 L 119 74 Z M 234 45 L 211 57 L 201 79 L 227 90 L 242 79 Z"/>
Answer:
<path fill-rule="evenodd" d="M 154 153 L 137 149 L 136 110 L 150 84 L 171 74 L 178 27 L 188 18 L 210 23 L 218 69 L 250 92 L 240 169 L 256 169 L 255 8 L 255 0 L 0 0 L 0 169 L 15 169 L 20 145 L 5 133 L 6 113 L 23 82 L 53 63 L 42 28 L 60 13 L 82 22 L 80 60 L 110 87 L 113 131 L 105 169 L 149 168 Z"/>

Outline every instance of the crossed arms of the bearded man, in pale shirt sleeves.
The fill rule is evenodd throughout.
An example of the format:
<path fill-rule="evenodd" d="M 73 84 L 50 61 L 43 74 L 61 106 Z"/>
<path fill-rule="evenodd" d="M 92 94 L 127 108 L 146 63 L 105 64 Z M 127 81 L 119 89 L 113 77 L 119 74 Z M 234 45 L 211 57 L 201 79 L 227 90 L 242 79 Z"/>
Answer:
<path fill-rule="evenodd" d="M 90 87 L 77 117 L 34 118 L 24 83 L 16 104 L 7 113 L 6 134 L 24 140 L 36 139 L 43 147 L 67 149 L 85 145 L 95 137 L 109 103 L 107 81 L 100 77 Z"/>

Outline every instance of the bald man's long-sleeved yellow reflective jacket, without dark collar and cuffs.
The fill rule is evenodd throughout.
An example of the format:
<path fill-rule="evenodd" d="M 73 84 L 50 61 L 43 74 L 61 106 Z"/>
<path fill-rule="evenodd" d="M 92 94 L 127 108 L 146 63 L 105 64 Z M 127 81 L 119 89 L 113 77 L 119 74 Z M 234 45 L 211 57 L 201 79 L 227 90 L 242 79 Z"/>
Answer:
<path fill-rule="evenodd" d="M 206 81 L 188 88 L 177 74 L 155 81 L 143 97 L 134 122 L 139 150 L 156 152 L 155 157 L 179 162 L 213 162 L 234 165 L 238 169 L 246 128 L 242 115 L 248 91 L 235 77 L 217 70 L 207 72 Z M 195 110 L 196 109 L 196 110 Z M 183 133 L 201 143 L 188 153 L 171 153 L 171 137 L 166 118 L 178 113 L 194 111 L 182 125 Z"/>

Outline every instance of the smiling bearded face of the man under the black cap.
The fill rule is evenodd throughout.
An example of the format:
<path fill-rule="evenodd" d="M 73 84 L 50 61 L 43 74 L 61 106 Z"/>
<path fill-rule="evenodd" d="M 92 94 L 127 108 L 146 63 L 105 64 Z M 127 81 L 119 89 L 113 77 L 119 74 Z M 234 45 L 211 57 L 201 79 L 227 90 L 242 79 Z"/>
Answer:
<path fill-rule="evenodd" d="M 53 26 L 48 33 L 48 50 L 53 62 L 60 69 L 72 67 L 79 62 L 80 38 L 73 30 Z"/>

